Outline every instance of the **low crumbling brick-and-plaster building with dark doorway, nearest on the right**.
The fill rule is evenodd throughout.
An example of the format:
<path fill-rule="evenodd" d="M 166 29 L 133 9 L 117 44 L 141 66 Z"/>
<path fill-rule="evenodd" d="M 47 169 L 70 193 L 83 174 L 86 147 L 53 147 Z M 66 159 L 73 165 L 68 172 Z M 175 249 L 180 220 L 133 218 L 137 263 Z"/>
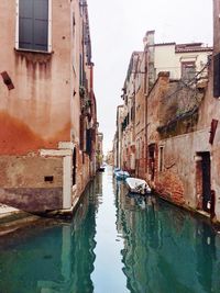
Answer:
<path fill-rule="evenodd" d="M 215 23 L 219 18 L 218 4 L 216 1 Z M 166 200 L 194 209 L 212 221 L 220 221 L 220 117 L 219 101 L 213 98 L 218 98 L 219 86 L 216 81 L 219 63 L 215 57 L 218 34 L 215 25 L 213 63 L 209 52 L 208 61 L 194 75 L 190 72 L 190 78 L 173 80 L 170 72 L 162 72 L 147 99 L 146 178 Z M 155 104 L 156 111 L 152 111 Z"/>

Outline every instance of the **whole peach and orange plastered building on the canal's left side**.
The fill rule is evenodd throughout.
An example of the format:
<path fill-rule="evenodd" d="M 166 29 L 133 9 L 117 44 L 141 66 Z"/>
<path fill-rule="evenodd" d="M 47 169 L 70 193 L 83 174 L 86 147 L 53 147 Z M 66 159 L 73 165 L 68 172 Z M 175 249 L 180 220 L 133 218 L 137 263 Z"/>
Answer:
<path fill-rule="evenodd" d="M 0 202 L 72 209 L 95 172 L 86 0 L 0 2 Z"/>

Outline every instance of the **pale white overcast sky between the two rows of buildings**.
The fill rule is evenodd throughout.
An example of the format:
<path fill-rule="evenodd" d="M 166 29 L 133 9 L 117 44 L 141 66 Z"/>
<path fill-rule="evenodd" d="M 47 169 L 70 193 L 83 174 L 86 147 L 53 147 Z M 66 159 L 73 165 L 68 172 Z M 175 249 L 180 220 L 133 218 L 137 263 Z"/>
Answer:
<path fill-rule="evenodd" d="M 112 149 L 117 106 L 133 50 L 146 31 L 155 42 L 212 45 L 212 0 L 87 0 L 95 64 L 95 94 L 103 150 Z"/>

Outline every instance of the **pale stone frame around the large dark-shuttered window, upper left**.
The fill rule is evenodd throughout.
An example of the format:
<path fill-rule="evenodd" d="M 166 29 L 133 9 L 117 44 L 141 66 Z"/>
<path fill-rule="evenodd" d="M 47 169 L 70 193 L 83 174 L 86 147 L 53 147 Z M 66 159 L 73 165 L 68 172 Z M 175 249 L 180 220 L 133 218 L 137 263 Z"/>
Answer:
<path fill-rule="evenodd" d="M 20 0 L 15 0 L 15 49 L 24 52 L 36 52 L 51 54 L 52 53 L 52 0 L 48 0 L 48 32 L 47 32 L 47 50 L 37 50 L 32 48 L 20 48 L 19 47 L 19 4 Z"/>

